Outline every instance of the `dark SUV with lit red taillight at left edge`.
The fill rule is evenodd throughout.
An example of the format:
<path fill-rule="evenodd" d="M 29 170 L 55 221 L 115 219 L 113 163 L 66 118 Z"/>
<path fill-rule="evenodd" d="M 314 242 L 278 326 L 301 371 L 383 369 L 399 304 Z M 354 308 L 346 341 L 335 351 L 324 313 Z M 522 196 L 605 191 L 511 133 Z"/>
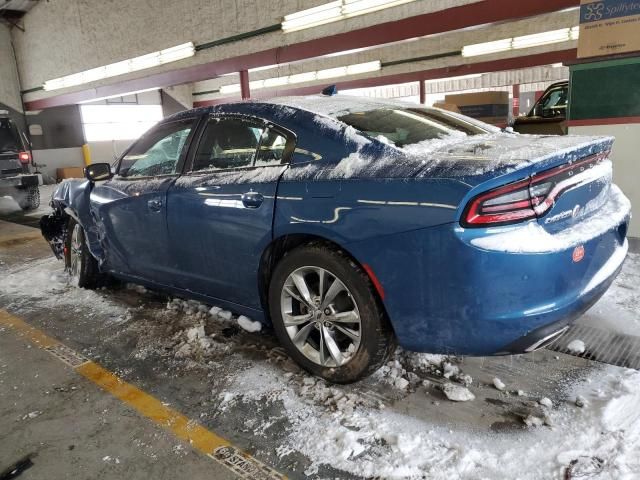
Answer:
<path fill-rule="evenodd" d="M 40 177 L 29 170 L 31 153 L 13 121 L 0 112 L 0 196 L 10 195 L 23 210 L 40 206 Z"/>

